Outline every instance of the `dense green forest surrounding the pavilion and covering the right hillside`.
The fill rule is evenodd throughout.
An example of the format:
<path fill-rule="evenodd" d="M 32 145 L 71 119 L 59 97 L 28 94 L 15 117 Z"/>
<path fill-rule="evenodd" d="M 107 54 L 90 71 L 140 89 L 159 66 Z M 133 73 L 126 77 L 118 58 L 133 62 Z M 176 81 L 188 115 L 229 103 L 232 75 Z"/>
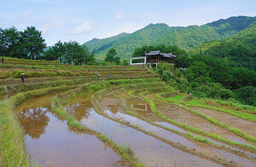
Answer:
<path fill-rule="evenodd" d="M 132 56 L 143 51 L 160 50 L 178 55 L 175 67 L 160 64 L 156 73 L 178 90 L 188 89 L 197 97 L 210 97 L 256 106 L 256 22 L 234 37 L 205 42 L 191 51 L 174 45 L 149 45 L 136 48 Z M 179 67 L 186 70 L 177 70 Z"/>

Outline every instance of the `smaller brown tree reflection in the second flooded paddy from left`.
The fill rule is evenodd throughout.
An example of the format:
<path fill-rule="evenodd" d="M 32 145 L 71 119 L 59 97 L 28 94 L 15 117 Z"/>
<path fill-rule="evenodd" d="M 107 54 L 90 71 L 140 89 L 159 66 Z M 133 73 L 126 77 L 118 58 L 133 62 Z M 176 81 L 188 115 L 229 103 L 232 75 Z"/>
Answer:
<path fill-rule="evenodd" d="M 89 102 L 82 102 L 71 104 L 66 107 L 68 114 L 72 114 L 78 120 L 87 119 L 90 116 L 90 112 L 93 108 L 91 103 Z"/>

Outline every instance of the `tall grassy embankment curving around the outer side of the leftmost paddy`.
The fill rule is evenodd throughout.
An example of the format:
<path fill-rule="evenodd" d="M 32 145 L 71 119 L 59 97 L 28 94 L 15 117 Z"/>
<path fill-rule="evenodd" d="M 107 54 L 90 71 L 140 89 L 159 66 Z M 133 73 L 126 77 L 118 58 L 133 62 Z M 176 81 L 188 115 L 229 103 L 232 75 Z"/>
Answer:
<path fill-rule="evenodd" d="M 40 97 L 51 92 L 59 92 L 74 89 L 77 86 L 60 86 L 54 88 L 45 88 L 33 90 L 24 93 L 18 93 L 8 100 L 0 101 L 0 123 L 1 123 L 1 166 L 17 167 L 30 166 L 28 152 L 24 143 L 24 133 L 18 121 L 14 108 L 23 101 Z M 32 162 L 33 163 L 33 162 Z"/>

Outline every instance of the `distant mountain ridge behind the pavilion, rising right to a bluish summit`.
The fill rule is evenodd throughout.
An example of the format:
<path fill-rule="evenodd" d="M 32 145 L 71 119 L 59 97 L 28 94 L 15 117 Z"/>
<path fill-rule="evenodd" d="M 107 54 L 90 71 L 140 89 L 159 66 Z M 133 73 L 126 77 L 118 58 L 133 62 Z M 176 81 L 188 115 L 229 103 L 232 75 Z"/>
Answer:
<path fill-rule="evenodd" d="M 206 41 L 231 38 L 234 34 L 245 29 L 256 17 L 238 16 L 220 19 L 202 26 L 188 26 L 168 32 L 151 45 L 177 45 L 186 50 L 191 50 Z"/>

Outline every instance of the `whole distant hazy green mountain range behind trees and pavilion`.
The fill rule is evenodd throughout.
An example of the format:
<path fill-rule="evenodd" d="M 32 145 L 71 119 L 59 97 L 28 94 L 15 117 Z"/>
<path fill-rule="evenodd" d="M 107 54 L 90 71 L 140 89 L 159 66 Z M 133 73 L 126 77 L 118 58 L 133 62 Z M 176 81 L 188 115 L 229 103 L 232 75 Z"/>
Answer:
<path fill-rule="evenodd" d="M 170 27 L 164 23 L 149 24 L 131 34 L 122 33 L 102 40 L 94 38 L 83 45 L 89 51 L 96 48 L 97 60 L 103 60 L 111 48 L 115 48 L 117 55 L 123 60 L 129 59 L 134 49 L 143 45 L 177 45 L 181 49 L 192 50 L 207 41 L 231 38 L 254 21 L 256 17 L 238 16 L 202 26 Z"/>

